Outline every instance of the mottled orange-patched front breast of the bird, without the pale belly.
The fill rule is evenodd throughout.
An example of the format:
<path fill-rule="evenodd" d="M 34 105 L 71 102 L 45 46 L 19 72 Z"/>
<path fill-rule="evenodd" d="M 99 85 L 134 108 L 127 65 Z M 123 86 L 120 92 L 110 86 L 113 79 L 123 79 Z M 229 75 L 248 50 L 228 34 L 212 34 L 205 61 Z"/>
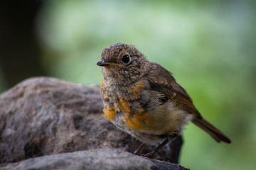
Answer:
<path fill-rule="evenodd" d="M 132 85 L 120 84 L 115 79 L 104 79 L 100 85 L 105 105 L 104 113 L 110 121 L 122 121 L 132 129 L 139 129 L 146 116 L 139 105 L 144 82 Z"/>

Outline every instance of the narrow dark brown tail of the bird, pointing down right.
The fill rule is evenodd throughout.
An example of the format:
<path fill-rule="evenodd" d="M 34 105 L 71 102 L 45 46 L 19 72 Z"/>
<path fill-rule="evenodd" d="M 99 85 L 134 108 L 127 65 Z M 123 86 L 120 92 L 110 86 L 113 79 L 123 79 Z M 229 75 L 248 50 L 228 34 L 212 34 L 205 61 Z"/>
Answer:
<path fill-rule="evenodd" d="M 226 143 L 231 143 L 231 140 L 228 136 L 226 136 L 223 132 L 220 132 L 220 130 L 208 123 L 207 120 L 203 118 L 193 118 L 192 122 L 195 123 L 199 128 L 206 131 L 217 142 L 223 141 Z"/>

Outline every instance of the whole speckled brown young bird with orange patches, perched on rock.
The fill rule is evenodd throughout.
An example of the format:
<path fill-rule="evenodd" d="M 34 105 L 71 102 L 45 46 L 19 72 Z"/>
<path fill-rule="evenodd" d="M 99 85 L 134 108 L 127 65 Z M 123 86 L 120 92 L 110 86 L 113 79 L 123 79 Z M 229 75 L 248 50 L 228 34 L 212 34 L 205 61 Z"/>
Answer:
<path fill-rule="evenodd" d="M 217 142 L 230 138 L 204 119 L 185 89 L 173 74 L 160 64 L 149 62 L 134 45 L 116 43 L 102 51 L 97 65 L 102 67 L 100 84 L 103 112 L 117 128 L 142 142 L 134 152 L 140 154 L 146 144 L 160 145 L 153 155 L 181 135 L 190 121 Z"/>

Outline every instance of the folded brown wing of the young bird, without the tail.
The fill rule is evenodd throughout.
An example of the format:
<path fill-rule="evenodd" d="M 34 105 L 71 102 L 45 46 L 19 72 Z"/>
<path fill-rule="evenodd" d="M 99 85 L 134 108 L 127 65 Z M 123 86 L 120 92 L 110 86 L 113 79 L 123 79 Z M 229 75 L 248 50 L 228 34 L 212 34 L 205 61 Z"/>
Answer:
<path fill-rule="evenodd" d="M 171 101 L 174 101 L 178 108 L 193 114 L 197 118 L 202 118 L 201 114 L 193 105 L 191 97 L 188 96 L 185 89 L 176 83 L 171 72 L 156 63 L 152 63 L 152 66 L 151 71 L 146 75 L 151 89 L 161 92 L 167 98 L 171 99 Z"/>

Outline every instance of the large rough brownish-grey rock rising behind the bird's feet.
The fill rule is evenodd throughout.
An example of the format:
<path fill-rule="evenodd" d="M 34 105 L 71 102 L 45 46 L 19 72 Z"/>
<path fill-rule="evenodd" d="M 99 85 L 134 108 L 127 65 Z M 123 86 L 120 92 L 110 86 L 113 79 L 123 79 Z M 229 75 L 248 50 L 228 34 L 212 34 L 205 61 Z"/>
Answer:
<path fill-rule="evenodd" d="M 115 128 L 102 108 L 98 86 L 46 77 L 21 82 L 0 95 L 0 164 L 97 148 L 134 151 L 140 142 Z M 181 144 L 178 137 L 155 156 L 178 162 Z"/>

